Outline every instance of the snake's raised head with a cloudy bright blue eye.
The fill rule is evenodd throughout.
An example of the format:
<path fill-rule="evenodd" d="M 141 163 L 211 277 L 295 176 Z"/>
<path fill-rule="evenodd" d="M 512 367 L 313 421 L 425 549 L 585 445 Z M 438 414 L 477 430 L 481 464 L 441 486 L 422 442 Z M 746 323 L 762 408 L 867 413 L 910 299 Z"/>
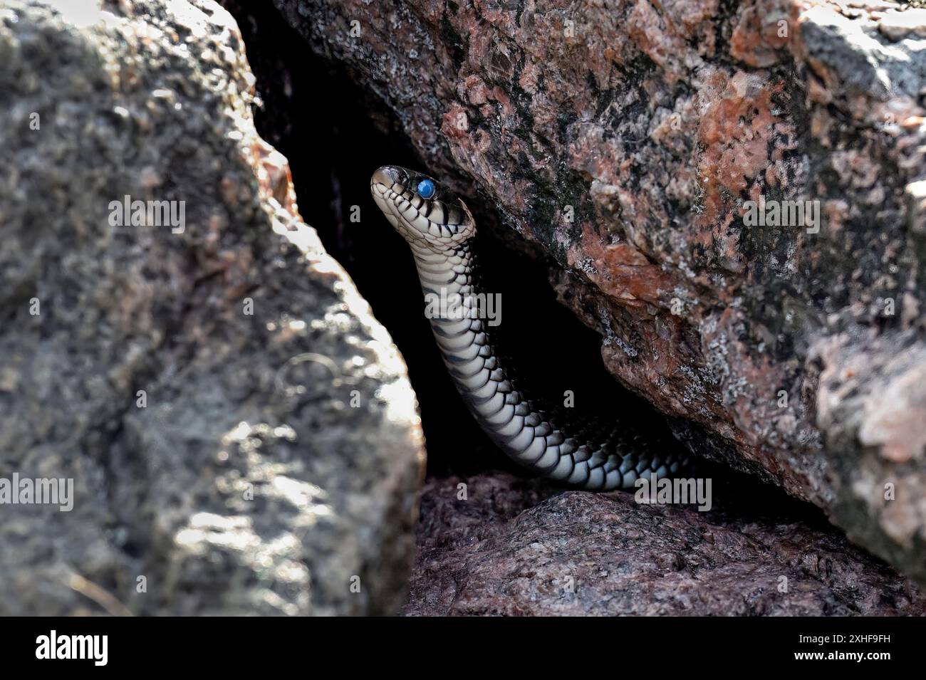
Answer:
<path fill-rule="evenodd" d="M 383 166 L 369 180 L 382 214 L 402 237 L 429 250 L 453 250 L 476 233 L 469 208 L 436 179 Z"/>

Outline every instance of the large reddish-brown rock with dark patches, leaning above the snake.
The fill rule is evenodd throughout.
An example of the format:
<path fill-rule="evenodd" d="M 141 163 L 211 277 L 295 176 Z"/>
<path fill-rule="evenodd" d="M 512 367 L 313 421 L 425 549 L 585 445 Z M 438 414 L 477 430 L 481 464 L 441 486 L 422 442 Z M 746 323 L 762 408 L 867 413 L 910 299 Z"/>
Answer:
<path fill-rule="evenodd" d="M 609 370 L 698 451 L 926 581 L 920 9 L 274 4 L 482 195 L 482 225 L 555 258 Z M 811 212 L 769 226 L 749 202 Z"/>

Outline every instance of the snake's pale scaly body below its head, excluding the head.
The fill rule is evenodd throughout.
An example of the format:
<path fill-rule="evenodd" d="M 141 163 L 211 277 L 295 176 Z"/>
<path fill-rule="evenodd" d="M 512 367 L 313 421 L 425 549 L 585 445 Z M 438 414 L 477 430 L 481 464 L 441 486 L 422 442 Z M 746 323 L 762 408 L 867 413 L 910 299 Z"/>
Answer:
<path fill-rule="evenodd" d="M 409 245 L 444 365 L 496 445 L 519 464 L 582 488 L 632 488 L 640 477 L 675 472 L 680 461 L 629 445 L 617 427 L 570 427 L 571 419 L 535 407 L 516 388 L 490 338 L 493 323 L 484 316 L 489 296 L 470 242 L 440 250 Z"/>

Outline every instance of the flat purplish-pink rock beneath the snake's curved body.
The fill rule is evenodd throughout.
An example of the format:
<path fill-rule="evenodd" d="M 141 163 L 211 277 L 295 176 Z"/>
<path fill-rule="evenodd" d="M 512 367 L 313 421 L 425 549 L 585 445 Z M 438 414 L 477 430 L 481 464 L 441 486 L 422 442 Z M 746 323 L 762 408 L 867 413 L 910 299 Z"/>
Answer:
<path fill-rule="evenodd" d="M 731 490 L 699 513 L 504 473 L 431 479 L 403 612 L 926 614 L 919 587 L 822 518 L 788 516 L 781 500 L 744 513 L 742 501 L 724 501 Z"/>

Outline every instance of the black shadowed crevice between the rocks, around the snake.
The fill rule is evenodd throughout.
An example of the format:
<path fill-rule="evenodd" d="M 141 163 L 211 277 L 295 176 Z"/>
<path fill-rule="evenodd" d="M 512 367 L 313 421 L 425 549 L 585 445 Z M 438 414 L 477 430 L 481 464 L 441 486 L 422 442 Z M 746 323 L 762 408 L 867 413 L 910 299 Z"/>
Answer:
<path fill-rule="evenodd" d="M 300 213 L 354 279 L 406 360 L 419 399 L 429 475 L 503 469 L 532 476 L 499 451 L 467 412 L 423 315 L 407 244 L 369 195 L 369 177 L 377 167 L 399 165 L 426 173 L 429 168 L 421 166 L 382 102 L 339 67 L 314 56 L 272 5 L 222 4 L 237 19 L 250 48 L 247 56 L 263 102 L 255 112 L 257 131 L 289 159 Z M 477 225 L 496 221 L 482 215 L 482 201 L 470 207 Z M 351 216 L 357 210 L 355 222 Z M 557 303 L 548 263 L 523 252 L 538 250 L 528 246 L 516 252 L 510 236 L 498 239 L 487 229 L 479 238 L 487 291 L 502 295 L 503 349 L 518 356 L 520 373 L 532 373 L 532 382 L 544 386 L 542 396 L 561 401 L 563 391 L 571 389 L 577 409 L 583 402 L 619 402 L 632 422 L 661 422 L 647 402 L 607 373 L 600 337 Z M 715 507 L 829 526 L 817 508 L 754 477 L 706 462 L 695 464 L 692 475 L 713 478 Z"/>

